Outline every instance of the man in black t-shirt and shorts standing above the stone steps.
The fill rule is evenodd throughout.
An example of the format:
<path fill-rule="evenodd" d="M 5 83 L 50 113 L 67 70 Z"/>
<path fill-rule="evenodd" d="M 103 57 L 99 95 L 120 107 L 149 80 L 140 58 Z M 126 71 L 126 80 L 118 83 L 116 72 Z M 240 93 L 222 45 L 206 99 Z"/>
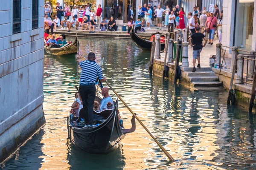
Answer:
<path fill-rule="evenodd" d="M 207 38 L 202 34 L 200 31 L 200 27 L 195 28 L 195 34 L 192 34 L 189 38 L 189 44 L 193 47 L 193 65 L 194 68 L 192 72 L 195 72 L 195 60 L 198 59 L 198 68 L 201 68 L 200 66 L 200 53 L 202 51 L 202 48 L 205 47 L 207 43 Z M 204 39 L 204 45 L 203 45 L 203 39 Z M 192 42 L 191 42 L 192 41 Z"/>

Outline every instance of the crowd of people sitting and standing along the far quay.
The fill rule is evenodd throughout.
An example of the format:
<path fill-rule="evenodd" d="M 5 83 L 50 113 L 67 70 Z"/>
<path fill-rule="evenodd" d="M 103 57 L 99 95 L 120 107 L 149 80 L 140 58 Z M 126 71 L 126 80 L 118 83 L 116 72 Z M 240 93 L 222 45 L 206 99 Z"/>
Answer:
<path fill-rule="evenodd" d="M 212 41 L 214 39 L 215 30 L 218 29 L 218 38 L 221 42 L 221 31 L 222 31 L 222 13 L 218 9 L 218 5 L 215 5 L 215 11 L 207 11 L 206 7 L 203 7 L 203 10 L 200 10 L 200 6 L 196 6 L 193 8 L 192 12 L 189 12 L 187 17 L 183 7 L 179 5 L 172 6 L 166 4 L 161 8 L 158 6 L 151 6 L 151 3 L 144 4 L 143 7 L 139 6 L 137 12 L 137 20 L 135 21 L 135 14 L 132 10 L 132 7 L 129 6 L 128 9 L 128 32 L 130 33 L 132 26 L 134 26 L 135 32 L 144 31 L 145 29 L 151 29 L 151 26 L 156 26 L 157 28 L 162 30 L 162 25 L 168 28 L 169 32 L 173 32 L 174 29 L 189 29 L 190 35 L 195 33 L 195 28 L 197 26 L 200 27 L 200 31 L 209 37 L 209 44 L 213 44 Z M 47 1 L 45 4 L 45 27 L 47 29 L 47 33 L 49 33 L 49 29 L 51 30 L 51 34 L 56 31 L 57 27 L 61 27 L 61 29 L 67 29 L 70 32 L 71 28 L 78 29 L 80 26 L 82 30 L 88 30 L 89 33 L 94 33 L 95 28 L 99 27 L 99 31 L 117 31 L 117 24 L 113 17 L 109 21 L 105 18 L 102 19 L 102 7 L 99 4 L 96 10 L 96 13 L 93 9 L 91 9 L 90 4 L 87 6 L 79 8 L 74 5 L 73 9 L 70 10 L 70 7 L 65 4 L 63 8 L 60 6 L 60 3 L 57 3 L 56 6 L 56 16 L 55 19 L 52 20 L 50 16 L 52 13 L 52 7 L 49 5 Z M 61 20 L 61 16 L 64 15 L 64 19 Z M 70 19 L 72 17 L 72 19 Z M 144 27 L 144 28 L 143 28 Z"/>

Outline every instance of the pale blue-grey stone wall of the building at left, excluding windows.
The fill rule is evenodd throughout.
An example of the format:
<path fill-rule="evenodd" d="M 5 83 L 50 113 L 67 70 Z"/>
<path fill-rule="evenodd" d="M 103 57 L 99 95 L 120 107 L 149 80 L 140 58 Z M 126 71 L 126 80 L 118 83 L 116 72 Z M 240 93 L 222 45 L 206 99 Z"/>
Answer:
<path fill-rule="evenodd" d="M 44 0 L 32 30 L 32 0 L 21 0 L 21 33 L 12 34 L 12 0 L 0 6 L 0 162 L 45 123 Z"/>

